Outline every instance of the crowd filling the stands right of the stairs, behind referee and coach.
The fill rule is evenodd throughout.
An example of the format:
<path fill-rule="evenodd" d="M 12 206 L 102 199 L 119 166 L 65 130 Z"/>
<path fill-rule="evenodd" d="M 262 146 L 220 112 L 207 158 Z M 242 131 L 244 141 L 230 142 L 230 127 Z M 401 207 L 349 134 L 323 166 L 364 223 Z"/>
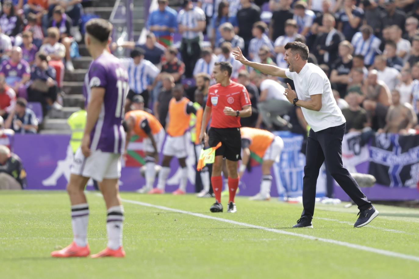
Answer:
<path fill-rule="evenodd" d="M 175 84 L 204 103 L 214 64 L 229 61 L 232 79 L 252 98 L 253 115 L 243 125 L 306 134 L 300 108 L 283 95 L 292 80 L 243 67 L 232 55 L 240 47 L 248 59 L 287 68 L 285 44 L 302 41 L 308 62 L 331 81 L 347 132 L 410 133 L 419 129 L 418 27 L 415 0 L 182 0 L 177 10 L 158 0 L 146 43 L 111 49 L 133 49 L 127 67 L 136 86 L 129 99 L 142 95 L 163 127 Z"/>

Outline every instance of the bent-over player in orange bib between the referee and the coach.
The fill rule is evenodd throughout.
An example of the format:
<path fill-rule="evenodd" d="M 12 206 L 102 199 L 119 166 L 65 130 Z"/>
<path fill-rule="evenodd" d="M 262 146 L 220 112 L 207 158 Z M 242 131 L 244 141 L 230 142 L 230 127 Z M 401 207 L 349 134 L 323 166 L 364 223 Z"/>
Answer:
<path fill-rule="evenodd" d="M 269 200 L 271 198 L 272 175 L 271 168 L 275 162 L 279 161 L 284 141 L 273 133 L 256 128 L 241 127 L 241 147 L 243 149 L 242 164 L 239 167 L 239 177 L 243 177 L 243 172 L 253 152 L 263 159 L 262 162 L 262 182 L 260 191 L 250 200 Z"/>

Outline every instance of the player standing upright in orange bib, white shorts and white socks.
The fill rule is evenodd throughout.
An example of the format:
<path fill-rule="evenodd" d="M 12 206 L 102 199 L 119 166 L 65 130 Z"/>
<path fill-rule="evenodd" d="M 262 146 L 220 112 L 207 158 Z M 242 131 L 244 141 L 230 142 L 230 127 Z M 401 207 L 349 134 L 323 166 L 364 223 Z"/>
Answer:
<path fill-rule="evenodd" d="M 187 141 L 186 132 L 189 130 L 189 120 L 191 113 L 197 114 L 197 109 L 193 103 L 184 97 L 182 85 L 176 85 L 172 90 L 173 98 L 169 102 L 168 123 L 166 124 L 166 142 L 163 146 L 163 162 L 159 172 L 157 188 L 149 194 L 163 194 L 166 188 L 166 180 L 170 173 L 170 161 L 174 156 L 179 160 L 181 166 L 181 181 L 179 188 L 173 195 L 184 195 L 186 193 L 186 183 L 188 182 L 188 169 L 186 168 Z"/>

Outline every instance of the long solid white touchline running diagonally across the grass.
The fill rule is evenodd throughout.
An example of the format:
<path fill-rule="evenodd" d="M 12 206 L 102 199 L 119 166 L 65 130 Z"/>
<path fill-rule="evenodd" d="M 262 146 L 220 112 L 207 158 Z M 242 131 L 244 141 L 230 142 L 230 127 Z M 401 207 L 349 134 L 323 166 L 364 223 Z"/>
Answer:
<path fill-rule="evenodd" d="M 363 245 L 359 245 L 359 244 L 348 243 L 348 242 L 344 242 L 344 241 L 338 241 L 338 240 L 334 240 L 334 239 L 319 238 L 319 237 L 316 237 L 316 236 L 305 235 L 305 234 L 301 234 L 301 233 L 291 233 L 291 232 L 287 232 L 285 230 L 277 230 L 277 229 L 272 229 L 272 228 L 265 228 L 265 227 L 261 227 L 261 226 L 257 226 L 257 225 L 252 225 L 252 224 L 248 224 L 248 223 L 242 223 L 242 222 L 237 222 L 237 221 L 233 221 L 233 220 L 228 220 L 228 219 L 213 217 L 213 216 L 204 215 L 204 214 L 200 214 L 200 213 L 194 213 L 194 212 L 189 212 L 189 211 L 174 209 L 174 208 L 160 206 L 160 205 L 152 205 L 150 203 L 139 202 L 139 201 L 136 201 L 136 200 L 125 200 L 125 199 L 121 199 L 121 200 L 123 202 L 132 203 L 134 205 L 142 205 L 142 206 L 146 206 L 146 207 L 154 207 L 154 208 L 158 208 L 158 209 L 161 209 L 161 210 L 166 210 L 166 211 L 172 211 L 172 212 L 178 212 L 178 213 L 188 214 L 188 215 L 192 215 L 192 216 L 199 217 L 199 218 L 212 219 L 212 220 L 217 220 L 217 221 L 220 221 L 220 222 L 225 222 L 225 223 L 229 223 L 229 224 L 239 225 L 239 226 L 243 226 L 243 227 L 254 228 L 254 229 L 259 229 L 259 230 L 266 230 L 266 231 L 269 231 L 269 232 L 272 232 L 272 233 L 280 233 L 280 234 L 285 234 L 285 235 L 292 235 L 292 236 L 297 236 L 297 237 L 300 237 L 300 238 L 305 238 L 305 239 L 310 239 L 310 240 L 316 240 L 316 241 L 322 241 L 322 242 L 326 242 L 326 243 L 336 244 L 336 245 L 339 245 L 339 246 L 344 246 L 344 247 L 349 247 L 349 248 L 358 249 L 358 250 L 362 250 L 362 251 L 367 251 L 367 252 L 371 252 L 371 253 L 376 253 L 376 254 L 379 254 L 379 255 L 390 256 L 390 257 L 394 257 L 394 258 L 406 259 L 406 260 L 411 260 L 411 261 L 417 261 L 417 262 L 419 262 L 419 257 L 418 256 L 406 255 L 406 254 L 402 254 L 402 253 L 397 253 L 397 252 L 393 252 L 393 251 L 387 251 L 387 250 L 372 248 L 372 247 L 368 247 L 368 246 L 363 246 Z M 362 229 L 357 228 L 357 230 L 362 230 Z"/>

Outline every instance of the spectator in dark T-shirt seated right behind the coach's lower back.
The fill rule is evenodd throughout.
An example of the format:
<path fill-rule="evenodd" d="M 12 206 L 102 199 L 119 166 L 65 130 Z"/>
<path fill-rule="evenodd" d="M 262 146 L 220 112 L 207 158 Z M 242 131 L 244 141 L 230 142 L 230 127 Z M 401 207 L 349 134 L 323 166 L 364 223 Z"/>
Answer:
<path fill-rule="evenodd" d="M 350 91 L 345 98 L 348 103 L 348 108 L 342 110 L 342 114 L 346 119 L 345 133 L 362 131 L 363 128 L 370 125 L 367 112 L 360 107 L 359 96 L 358 92 Z"/>

